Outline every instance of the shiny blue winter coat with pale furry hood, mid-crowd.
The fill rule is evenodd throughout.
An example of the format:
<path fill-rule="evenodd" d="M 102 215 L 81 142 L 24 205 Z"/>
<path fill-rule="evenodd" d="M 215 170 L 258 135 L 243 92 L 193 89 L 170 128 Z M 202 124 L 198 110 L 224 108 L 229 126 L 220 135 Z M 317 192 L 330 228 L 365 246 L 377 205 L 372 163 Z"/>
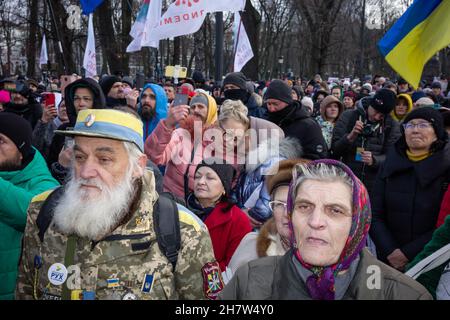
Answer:
<path fill-rule="evenodd" d="M 278 139 L 265 140 L 258 148 L 251 150 L 249 161 L 257 160 L 257 163 L 247 163 L 237 183 L 235 198 L 241 208 L 249 208 L 248 214 L 260 222 L 265 222 L 272 216 L 269 207 L 270 194 L 267 191 L 266 176 L 269 169 L 281 160 L 302 157 L 302 146 L 297 139 L 287 138 L 281 142 Z M 256 202 L 246 202 L 257 193 Z"/>

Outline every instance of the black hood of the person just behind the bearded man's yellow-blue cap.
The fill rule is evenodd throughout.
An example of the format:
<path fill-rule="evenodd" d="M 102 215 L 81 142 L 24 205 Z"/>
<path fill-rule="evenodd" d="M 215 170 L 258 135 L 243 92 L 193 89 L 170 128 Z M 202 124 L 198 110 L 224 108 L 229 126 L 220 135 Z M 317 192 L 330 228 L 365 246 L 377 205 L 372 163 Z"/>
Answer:
<path fill-rule="evenodd" d="M 103 94 L 100 85 L 91 78 L 78 79 L 77 81 L 69 84 L 64 90 L 64 99 L 66 102 L 67 116 L 69 117 L 70 127 L 73 127 L 77 121 L 77 111 L 75 110 L 75 105 L 73 103 L 73 97 L 75 95 L 75 89 L 77 88 L 88 88 L 94 94 L 94 104 L 93 109 L 105 109 L 106 108 L 106 98 Z"/>

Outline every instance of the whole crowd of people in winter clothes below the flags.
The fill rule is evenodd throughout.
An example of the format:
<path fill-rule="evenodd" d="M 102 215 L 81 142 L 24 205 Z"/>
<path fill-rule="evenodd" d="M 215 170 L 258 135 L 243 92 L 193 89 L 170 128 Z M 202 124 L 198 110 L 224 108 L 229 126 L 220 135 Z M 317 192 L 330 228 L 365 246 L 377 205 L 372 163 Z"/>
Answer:
<path fill-rule="evenodd" d="M 0 81 L 0 299 L 450 299 L 443 81 L 69 78 Z"/>

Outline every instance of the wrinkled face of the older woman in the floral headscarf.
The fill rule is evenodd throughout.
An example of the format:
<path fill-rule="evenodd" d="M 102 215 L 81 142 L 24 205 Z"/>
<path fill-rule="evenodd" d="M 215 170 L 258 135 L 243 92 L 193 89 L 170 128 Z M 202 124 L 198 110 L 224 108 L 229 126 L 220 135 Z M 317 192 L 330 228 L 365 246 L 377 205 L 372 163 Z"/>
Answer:
<path fill-rule="evenodd" d="M 292 225 L 306 263 L 324 267 L 338 262 L 352 225 L 351 196 L 343 182 L 306 180 L 300 185 Z"/>

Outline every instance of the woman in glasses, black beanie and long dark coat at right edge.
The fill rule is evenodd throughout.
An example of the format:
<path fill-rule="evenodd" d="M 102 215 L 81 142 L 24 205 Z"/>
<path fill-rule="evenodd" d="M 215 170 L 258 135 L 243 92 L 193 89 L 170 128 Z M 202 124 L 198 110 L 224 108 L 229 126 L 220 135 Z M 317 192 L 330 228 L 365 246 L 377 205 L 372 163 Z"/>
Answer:
<path fill-rule="evenodd" d="M 431 240 L 450 180 L 448 133 L 439 111 L 409 113 L 378 172 L 370 234 L 378 258 L 398 270 Z"/>

